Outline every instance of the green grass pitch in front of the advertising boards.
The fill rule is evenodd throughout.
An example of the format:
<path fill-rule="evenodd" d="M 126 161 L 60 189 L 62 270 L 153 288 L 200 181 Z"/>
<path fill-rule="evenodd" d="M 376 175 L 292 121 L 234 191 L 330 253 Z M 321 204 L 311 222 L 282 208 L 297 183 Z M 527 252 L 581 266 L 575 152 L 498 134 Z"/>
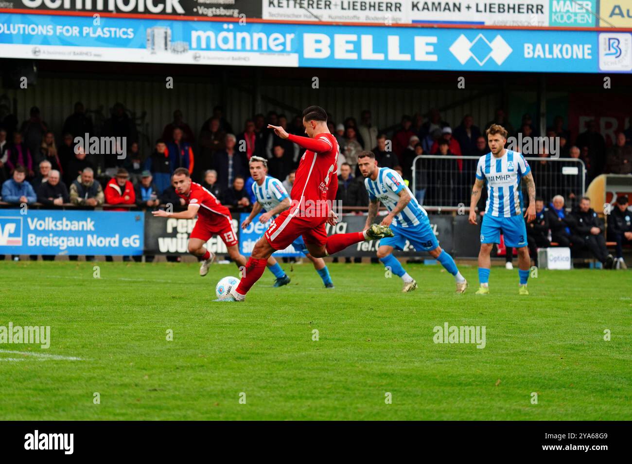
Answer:
<path fill-rule="evenodd" d="M 520 297 L 504 268 L 479 296 L 473 266 L 465 295 L 439 266 L 406 265 L 411 294 L 381 265 L 329 263 L 334 290 L 283 267 L 216 304 L 233 265 L 0 262 L 0 326 L 51 326 L 47 350 L 0 345 L 0 419 L 632 419 L 628 271 L 540 270 Z M 446 322 L 485 348 L 434 343 Z"/>

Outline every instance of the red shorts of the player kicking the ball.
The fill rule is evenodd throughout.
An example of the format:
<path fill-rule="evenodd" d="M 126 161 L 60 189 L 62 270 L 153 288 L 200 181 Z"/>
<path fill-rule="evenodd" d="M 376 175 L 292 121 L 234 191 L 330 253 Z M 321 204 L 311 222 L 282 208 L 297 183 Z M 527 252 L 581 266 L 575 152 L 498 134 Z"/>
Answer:
<path fill-rule="evenodd" d="M 287 248 L 300 235 L 303 235 L 305 244 L 324 245 L 327 242 L 325 223 L 327 218 L 324 217 L 305 217 L 299 210 L 295 210 L 294 214 L 285 210 L 265 231 L 265 239 L 276 250 Z"/>

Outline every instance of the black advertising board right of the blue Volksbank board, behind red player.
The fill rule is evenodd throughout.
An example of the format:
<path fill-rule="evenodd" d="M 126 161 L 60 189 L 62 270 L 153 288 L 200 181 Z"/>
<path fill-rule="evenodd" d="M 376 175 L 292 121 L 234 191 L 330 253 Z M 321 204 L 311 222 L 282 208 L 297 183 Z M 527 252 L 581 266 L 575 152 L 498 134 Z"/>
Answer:
<path fill-rule="evenodd" d="M 186 254 L 191 230 L 197 219 L 155 217 L 145 213 L 145 254 Z M 239 235 L 237 221 L 233 218 L 233 231 Z M 218 235 L 206 242 L 209 251 L 226 254 L 228 250 Z"/>

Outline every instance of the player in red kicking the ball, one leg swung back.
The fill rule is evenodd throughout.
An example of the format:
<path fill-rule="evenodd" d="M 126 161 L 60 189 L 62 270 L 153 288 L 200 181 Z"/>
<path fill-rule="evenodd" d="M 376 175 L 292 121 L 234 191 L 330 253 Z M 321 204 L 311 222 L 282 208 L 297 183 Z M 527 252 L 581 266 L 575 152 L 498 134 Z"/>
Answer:
<path fill-rule="evenodd" d="M 303 126 L 307 137 L 288 134 L 279 126 L 268 126 L 277 136 L 307 149 L 296 169 L 289 194 L 291 206 L 277 216 L 255 244 L 238 287 L 216 301 L 244 300 L 264 273 L 267 258 L 289 246 L 299 235 L 303 235 L 305 246 L 314 258 L 324 258 L 358 242 L 393 235 L 389 227 L 373 224 L 362 232 L 327 237 L 325 223 L 334 225 L 337 220 L 331 201 L 336 198 L 339 146 L 327 129 L 327 113 L 321 107 L 310 106 L 303 111 Z"/>

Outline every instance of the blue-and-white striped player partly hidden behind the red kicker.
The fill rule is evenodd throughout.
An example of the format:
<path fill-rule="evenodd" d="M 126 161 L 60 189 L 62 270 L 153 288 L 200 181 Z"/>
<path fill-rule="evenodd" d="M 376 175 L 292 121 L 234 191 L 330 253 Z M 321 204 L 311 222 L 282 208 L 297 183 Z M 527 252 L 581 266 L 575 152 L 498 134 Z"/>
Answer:
<path fill-rule="evenodd" d="M 286 191 L 281 181 L 267 175 L 268 164 L 265 158 L 252 157 L 248 164 L 250 165 L 250 175 L 255 181 L 252 184 L 252 191 L 257 201 L 253 205 L 250 215 L 241 223 L 241 229 L 245 229 L 262 210 L 265 210 L 265 213 L 259 217 L 259 222 L 265 224 L 271 218 L 277 217 L 281 211 L 287 210 L 290 205 L 288 191 Z M 305 242 L 303 242 L 303 237 L 300 235 L 298 239 L 292 243 L 292 246 L 296 251 L 305 254 L 305 256 L 312 261 L 315 270 L 325 284 L 325 288 L 333 289 L 334 284 L 331 281 L 329 269 L 327 269 L 324 259 L 314 258 L 307 250 Z M 284 273 L 279 263 L 277 263 L 277 260 L 272 258 L 272 256 L 268 258 L 267 267 L 276 278 L 274 287 L 281 287 L 290 282 L 288 275 Z"/>

